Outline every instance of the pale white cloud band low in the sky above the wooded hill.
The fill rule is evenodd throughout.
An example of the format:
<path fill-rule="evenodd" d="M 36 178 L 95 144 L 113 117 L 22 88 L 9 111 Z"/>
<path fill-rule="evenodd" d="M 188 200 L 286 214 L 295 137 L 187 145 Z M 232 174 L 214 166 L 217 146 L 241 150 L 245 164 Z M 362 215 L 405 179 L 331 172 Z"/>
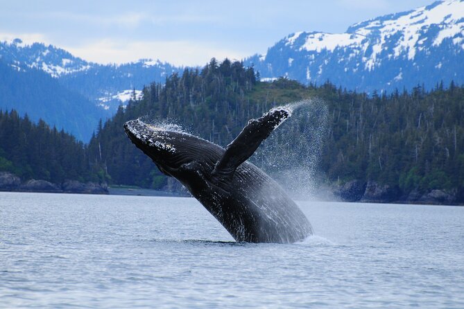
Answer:
<path fill-rule="evenodd" d="M 108 63 L 126 63 L 141 58 L 159 59 L 175 65 L 203 65 L 211 58 L 240 60 L 249 53 L 218 48 L 205 42 L 155 41 L 155 42 L 119 42 L 103 39 L 83 46 L 61 46 L 87 61 Z"/>

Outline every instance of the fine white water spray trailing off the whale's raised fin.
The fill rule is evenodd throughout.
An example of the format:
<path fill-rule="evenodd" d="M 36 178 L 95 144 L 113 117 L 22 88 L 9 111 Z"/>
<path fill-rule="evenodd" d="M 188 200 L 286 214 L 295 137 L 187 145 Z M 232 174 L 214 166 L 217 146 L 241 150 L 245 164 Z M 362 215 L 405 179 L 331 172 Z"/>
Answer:
<path fill-rule="evenodd" d="M 252 161 L 293 197 L 313 197 L 327 131 L 327 104 L 319 98 L 309 98 L 285 107 L 291 110 L 291 118 L 260 145 Z"/>

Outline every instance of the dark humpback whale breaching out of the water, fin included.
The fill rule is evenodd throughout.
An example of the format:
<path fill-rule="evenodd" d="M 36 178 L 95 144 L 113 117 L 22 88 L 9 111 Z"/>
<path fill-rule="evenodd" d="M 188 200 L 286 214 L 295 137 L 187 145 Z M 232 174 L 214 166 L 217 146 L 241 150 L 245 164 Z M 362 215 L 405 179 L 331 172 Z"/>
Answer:
<path fill-rule="evenodd" d="M 276 107 L 248 125 L 224 149 L 197 136 L 140 121 L 124 130 L 167 176 L 178 179 L 238 242 L 291 243 L 312 233 L 311 224 L 284 189 L 246 161 L 291 116 Z"/>

